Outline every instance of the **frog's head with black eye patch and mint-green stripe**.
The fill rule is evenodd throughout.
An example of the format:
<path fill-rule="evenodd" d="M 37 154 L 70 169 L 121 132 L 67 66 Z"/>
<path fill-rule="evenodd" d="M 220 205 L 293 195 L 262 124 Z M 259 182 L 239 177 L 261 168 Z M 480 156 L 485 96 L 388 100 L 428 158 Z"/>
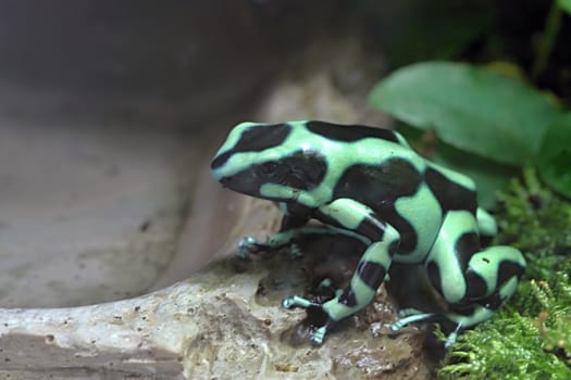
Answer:
<path fill-rule="evenodd" d="M 213 177 L 231 190 L 275 201 L 316 187 L 326 164 L 296 131 L 301 128 L 295 123 L 237 125 L 212 160 Z"/>

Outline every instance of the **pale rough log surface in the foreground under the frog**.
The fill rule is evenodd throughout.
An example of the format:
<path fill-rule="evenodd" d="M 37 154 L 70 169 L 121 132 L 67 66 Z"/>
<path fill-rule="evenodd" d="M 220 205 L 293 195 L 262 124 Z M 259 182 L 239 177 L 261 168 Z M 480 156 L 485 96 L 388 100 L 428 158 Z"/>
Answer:
<path fill-rule="evenodd" d="M 321 244 L 307 246 L 312 245 Z M 331 255 L 326 251 L 322 254 Z M 311 263 L 322 262 L 313 255 L 226 259 L 171 288 L 114 303 L 0 309 L 0 375 L 426 378 L 422 334 L 384 333 L 382 326 L 395 315 L 382 302 L 342 324 L 322 347 L 306 343 L 308 328 L 300 325 L 306 313 L 283 309 L 280 301 L 303 293 L 310 279 L 306 273 L 315 268 Z M 331 259 L 332 268 L 338 268 L 340 256 Z"/>

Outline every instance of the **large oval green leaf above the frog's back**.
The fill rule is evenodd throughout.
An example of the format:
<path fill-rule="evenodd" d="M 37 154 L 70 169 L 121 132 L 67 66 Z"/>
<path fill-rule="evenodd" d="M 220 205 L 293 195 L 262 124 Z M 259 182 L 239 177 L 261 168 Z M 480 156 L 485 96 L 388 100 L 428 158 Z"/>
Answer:
<path fill-rule="evenodd" d="M 532 160 L 557 105 L 524 84 L 482 67 L 449 62 L 398 69 L 370 102 L 464 151 L 508 165 Z"/>

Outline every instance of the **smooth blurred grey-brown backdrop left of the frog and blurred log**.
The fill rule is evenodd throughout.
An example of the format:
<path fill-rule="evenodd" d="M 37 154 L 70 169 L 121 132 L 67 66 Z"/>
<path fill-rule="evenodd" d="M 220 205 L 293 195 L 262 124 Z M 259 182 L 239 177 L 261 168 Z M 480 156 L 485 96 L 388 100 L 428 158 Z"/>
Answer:
<path fill-rule="evenodd" d="M 348 9 L 0 1 L 0 306 L 119 300 L 212 259 L 194 242 L 233 223 L 206 227 L 223 197 L 212 151 L 314 36 L 345 33 Z"/>

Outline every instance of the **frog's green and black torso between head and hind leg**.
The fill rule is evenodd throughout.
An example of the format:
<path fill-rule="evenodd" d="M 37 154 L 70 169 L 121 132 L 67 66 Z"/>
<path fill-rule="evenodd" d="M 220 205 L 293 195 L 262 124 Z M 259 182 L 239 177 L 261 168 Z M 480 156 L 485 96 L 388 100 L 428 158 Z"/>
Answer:
<path fill-rule="evenodd" d="M 343 153 L 327 159 L 336 167 L 335 178 L 327 179 L 332 199 L 370 206 L 399 231 L 399 253 L 409 254 L 411 261 L 430 249 L 447 212 L 475 215 L 474 182 L 426 161 L 398 132 L 360 126 L 326 130 L 324 138 L 343 141 Z"/>

